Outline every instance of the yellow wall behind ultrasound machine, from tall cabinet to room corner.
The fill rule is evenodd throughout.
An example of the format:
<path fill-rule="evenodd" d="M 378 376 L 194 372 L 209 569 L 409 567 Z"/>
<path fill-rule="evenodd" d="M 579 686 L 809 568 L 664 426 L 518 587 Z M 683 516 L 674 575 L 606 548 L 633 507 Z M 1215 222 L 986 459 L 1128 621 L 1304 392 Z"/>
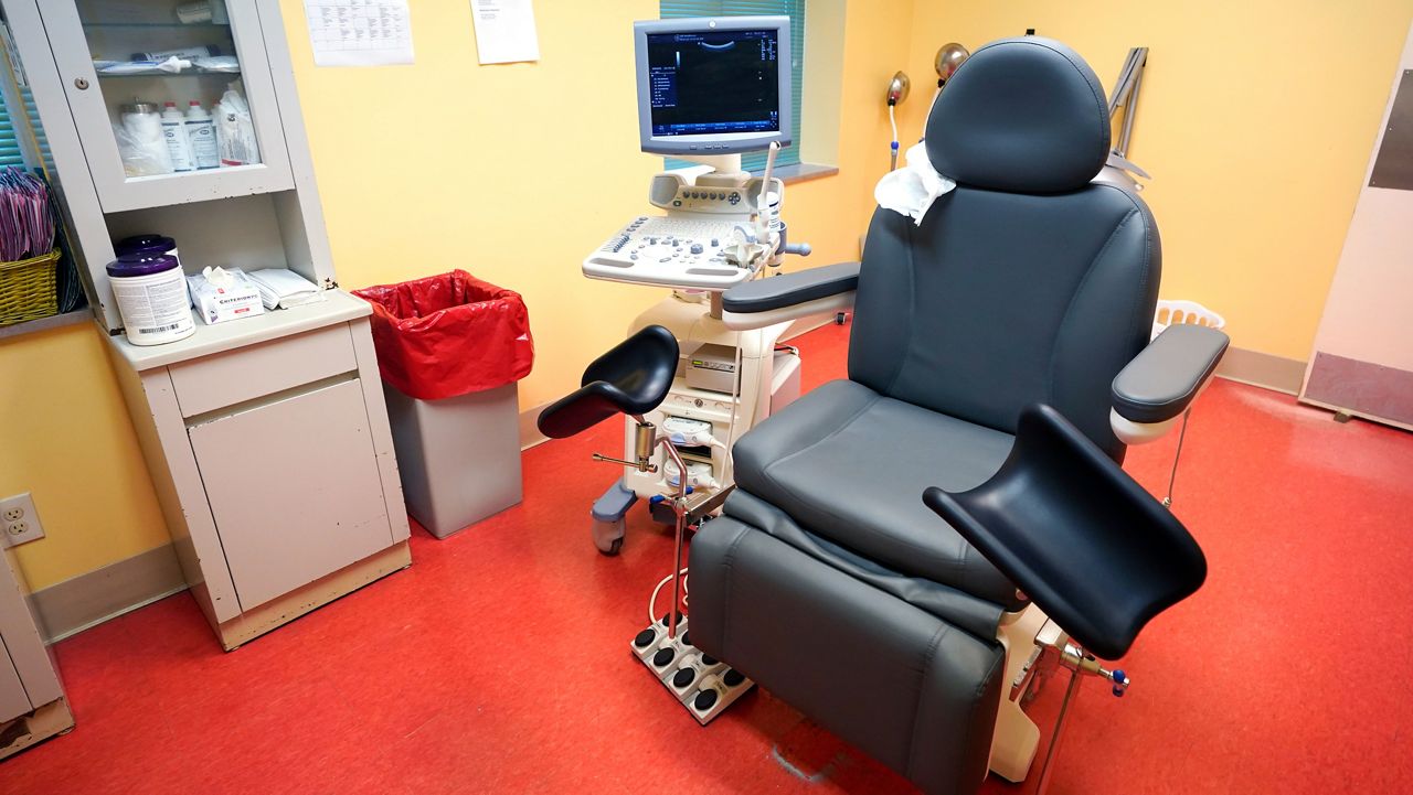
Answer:
<path fill-rule="evenodd" d="M 577 387 L 584 366 L 666 295 L 579 273 L 585 254 L 651 209 L 647 184 L 663 161 L 637 150 L 630 25 L 657 6 L 540 0 L 541 59 L 480 66 L 471 3 L 414 3 L 414 65 L 321 69 L 302 3 L 281 1 L 339 282 L 461 267 L 519 291 L 536 337 L 524 408 Z M 791 237 L 815 246 L 812 263 L 856 257 L 868 208 L 855 198 L 886 162 L 862 140 L 886 153 L 875 83 L 896 68 L 887 32 L 910 11 L 907 0 L 848 3 L 841 119 L 825 120 L 844 127 L 841 175 L 786 193 Z"/>

